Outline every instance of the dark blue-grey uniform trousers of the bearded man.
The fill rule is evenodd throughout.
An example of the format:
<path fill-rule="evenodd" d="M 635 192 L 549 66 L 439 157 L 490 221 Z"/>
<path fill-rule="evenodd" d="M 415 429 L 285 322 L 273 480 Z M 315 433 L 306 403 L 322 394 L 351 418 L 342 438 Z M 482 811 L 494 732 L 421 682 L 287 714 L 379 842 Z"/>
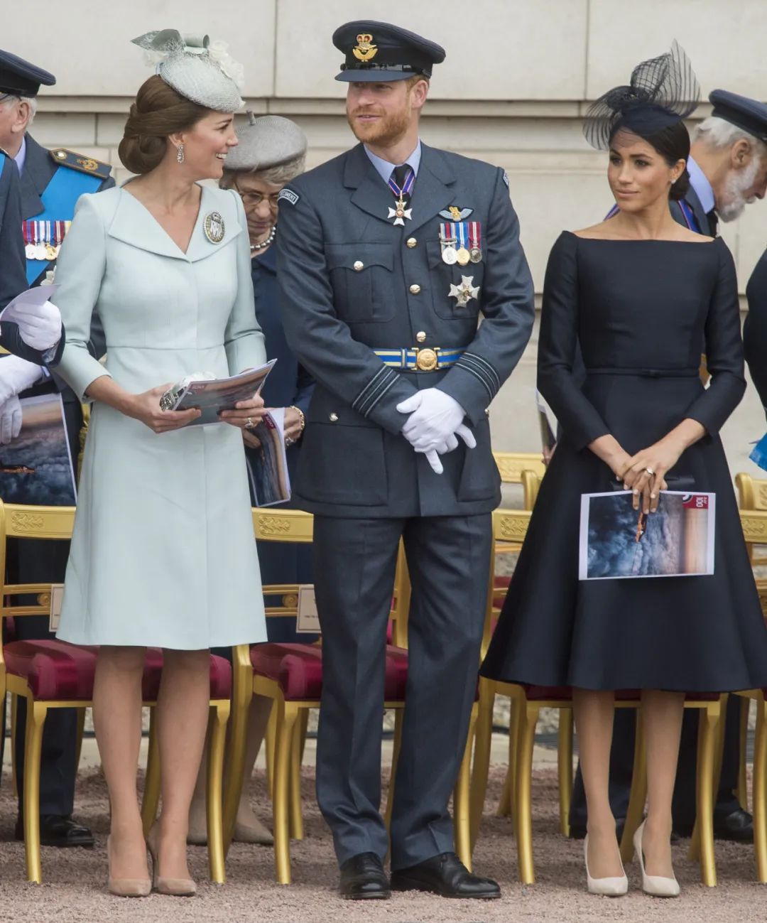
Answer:
<path fill-rule="evenodd" d="M 339 863 L 382 860 L 379 807 L 384 656 L 402 536 L 413 585 L 408 680 L 391 819 L 391 868 L 453 850 L 448 800 L 477 685 L 490 516 L 317 516 L 314 571 L 322 628 L 317 794 Z"/>

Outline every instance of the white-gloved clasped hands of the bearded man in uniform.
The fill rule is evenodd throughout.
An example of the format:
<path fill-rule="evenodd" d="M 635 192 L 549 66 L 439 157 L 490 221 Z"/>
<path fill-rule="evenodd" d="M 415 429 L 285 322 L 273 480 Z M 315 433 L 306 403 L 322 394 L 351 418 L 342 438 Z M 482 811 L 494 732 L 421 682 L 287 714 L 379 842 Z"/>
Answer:
<path fill-rule="evenodd" d="M 476 446 L 474 434 L 463 423 L 466 412 L 461 404 L 438 388 L 416 391 L 412 397 L 397 404 L 401 414 L 410 414 L 402 426 L 402 436 L 416 452 L 423 453 L 432 469 L 441 474 L 439 456 L 458 448 L 458 438 L 469 449 Z"/>

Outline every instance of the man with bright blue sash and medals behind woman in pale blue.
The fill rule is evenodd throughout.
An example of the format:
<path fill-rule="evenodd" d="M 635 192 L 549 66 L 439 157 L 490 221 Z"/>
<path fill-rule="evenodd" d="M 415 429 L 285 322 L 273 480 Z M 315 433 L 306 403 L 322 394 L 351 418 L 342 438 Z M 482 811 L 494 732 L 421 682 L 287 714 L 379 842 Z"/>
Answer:
<path fill-rule="evenodd" d="M 15 160 L 20 174 L 21 219 L 26 240 L 26 279 L 30 286 L 45 281 L 54 269 L 57 247 L 66 233 L 78 198 L 114 186 L 109 164 L 69 150 L 47 150 L 29 133 L 41 86 L 52 86 L 53 74 L 15 54 L 0 51 L 0 146 Z M 21 228 L 19 227 L 19 232 Z M 98 318 L 91 330 L 91 351 L 104 352 Z M 0 418 L 17 395 L 37 390 L 59 390 L 64 400 L 66 431 L 73 462 L 77 463 L 82 411 L 74 391 L 46 370 L 16 357 L 0 363 Z M 34 390 L 33 390 L 34 389 Z M 5 402 L 5 403 L 4 403 Z M 21 542 L 8 549 L 8 574 L 12 582 L 64 581 L 68 542 Z M 50 637 L 44 617 L 18 620 L 19 640 Z M 19 701 L 17 723 L 17 779 L 19 813 L 16 835 L 21 838 L 21 785 L 23 778 L 25 702 Z M 45 722 L 41 760 L 41 842 L 43 845 L 92 846 L 87 827 L 72 821 L 75 790 L 77 714 L 55 709 Z"/>

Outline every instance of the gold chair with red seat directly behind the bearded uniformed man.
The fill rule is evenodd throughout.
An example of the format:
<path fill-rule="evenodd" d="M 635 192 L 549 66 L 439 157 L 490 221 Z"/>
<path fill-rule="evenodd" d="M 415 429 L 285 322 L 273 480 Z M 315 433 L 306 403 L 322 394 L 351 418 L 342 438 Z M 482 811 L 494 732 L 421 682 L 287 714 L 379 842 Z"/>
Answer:
<path fill-rule="evenodd" d="M 254 509 L 253 522 L 259 541 L 307 543 L 312 541 L 313 517 L 297 509 Z M 395 711 L 394 754 L 386 816 L 390 817 L 396 760 L 401 740 L 401 713 L 404 707 L 404 680 L 407 674 L 406 612 L 410 600 L 410 587 L 406 580 L 404 557 L 400 550 L 400 566 L 392 599 L 393 635 L 395 647 L 387 652 L 387 687 L 389 693 L 385 708 Z M 265 596 L 282 596 L 282 605 L 270 606 L 267 617 L 296 616 L 298 587 L 295 585 L 270 585 L 263 588 Z M 303 651 L 301 649 L 304 649 Z M 272 659 L 273 656 L 273 659 Z M 290 658 L 296 658 L 294 662 Z M 294 673 L 303 673 L 302 684 L 293 688 L 290 679 Z M 314 695 L 304 697 L 302 692 L 310 686 Z M 244 782 L 244 756 L 246 747 L 247 713 L 254 695 L 272 701 L 275 714 L 274 767 L 273 767 L 273 828 L 276 878 L 280 884 L 290 884 L 290 840 L 303 838 L 300 792 L 300 722 L 312 708 L 319 708 L 321 687 L 321 645 L 260 644 L 254 648 L 239 645 L 234 648 L 234 694 L 232 700 L 232 732 L 230 737 L 227 778 L 224 788 L 225 845 L 231 843 L 237 804 Z M 475 720 L 475 712 L 473 713 Z M 469 740 L 472 739 L 472 729 Z M 464 752 L 461 772 L 454 793 L 454 823 L 456 851 L 463 861 L 471 861 L 469 843 L 469 746 Z"/>

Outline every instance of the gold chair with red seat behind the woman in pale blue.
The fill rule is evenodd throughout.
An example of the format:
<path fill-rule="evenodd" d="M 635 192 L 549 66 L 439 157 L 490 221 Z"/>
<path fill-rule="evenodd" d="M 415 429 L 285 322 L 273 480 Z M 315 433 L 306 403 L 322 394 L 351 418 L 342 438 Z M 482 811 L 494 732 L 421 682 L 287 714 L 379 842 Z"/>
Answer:
<path fill-rule="evenodd" d="M 74 507 L 38 507 L 4 504 L 0 500 L 0 620 L 14 617 L 46 616 L 51 611 L 50 583 L 6 584 L 6 540 L 69 539 L 75 521 Z M 36 596 L 35 605 L 14 603 L 21 595 Z M 53 708 L 75 708 L 80 714 L 90 707 L 96 647 L 80 647 L 66 641 L 11 641 L 0 644 L 0 692 L 27 700 L 27 725 L 24 749 L 24 847 L 27 879 L 41 883 L 40 855 L 40 758 L 45 717 Z M 144 669 L 144 704 L 153 706 L 162 673 L 162 652 L 150 648 Z M 213 658 L 211 658 L 212 660 Z M 214 658 L 222 661 L 222 658 Z M 223 665 L 226 665 L 224 667 Z M 225 726 L 229 716 L 231 673 L 226 661 L 215 677 L 215 698 L 210 700 L 210 745 L 208 751 L 208 853 L 210 878 L 225 881 L 222 831 L 222 763 Z M 212 664 L 211 664 L 212 667 Z M 211 668 L 211 680 L 214 671 Z M 225 685 L 225 689 L 220 688 Z M 148 695 L 148 690 L 151 694 Z M 150 749 L 151 746 L 150 746 Z M 156 750 L 156 746 L 155 746 Z M 159 763 L 150 760 L 142 816 L 145 832 L 157 809 Z M 150 816 L 150 807 L 151 809 Z"/>

